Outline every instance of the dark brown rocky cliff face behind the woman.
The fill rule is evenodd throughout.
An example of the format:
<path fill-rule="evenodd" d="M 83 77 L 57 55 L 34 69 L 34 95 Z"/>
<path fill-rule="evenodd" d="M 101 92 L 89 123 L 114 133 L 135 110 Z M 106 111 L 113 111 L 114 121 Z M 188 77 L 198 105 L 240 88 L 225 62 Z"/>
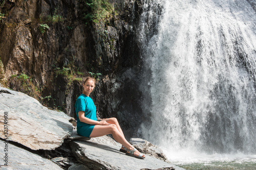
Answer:
<path fill-rule="evenodd" d="M 82 78 L 93 75 L 99 79 L 92 94 L 98 115 L 119 118 L 132 135 L 135 127 L 127 119 L 140 113 L 136 31 L 141 1 L 109 1 L 108 15 L 97 21 L 90 2 L 3 1 L 0 81 L 76 117 Z"/>

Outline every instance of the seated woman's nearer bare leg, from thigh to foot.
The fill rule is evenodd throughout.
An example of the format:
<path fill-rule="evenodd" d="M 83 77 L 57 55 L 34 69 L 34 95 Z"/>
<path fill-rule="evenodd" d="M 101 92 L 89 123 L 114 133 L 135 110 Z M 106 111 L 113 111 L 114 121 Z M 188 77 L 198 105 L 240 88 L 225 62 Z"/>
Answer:
<path fill-rule="evenodd" d="M 125 148 L 129 150 L 133 150 L 134 147 L 124 138 L 123 134 L 121 134 L 116 125 L 111 124 L 109 126 L 95 125 L 90 137 L 99 137 L 107 134 L 112 134 L 114 139 L 124 145 Z M 139 151 L 135 151 L 134 155 L 138 156 L 140 154 Z"/>

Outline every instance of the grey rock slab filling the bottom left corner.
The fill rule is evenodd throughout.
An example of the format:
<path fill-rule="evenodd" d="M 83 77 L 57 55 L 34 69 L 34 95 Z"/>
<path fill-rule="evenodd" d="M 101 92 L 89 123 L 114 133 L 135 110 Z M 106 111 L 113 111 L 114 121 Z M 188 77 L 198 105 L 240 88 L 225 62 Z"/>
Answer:
<path fill-rule="evenodd" d="M 6 147 L 7 145 L 7 147 Z M 22 148 L 18 148 L 15 145 L 0 140 L 0 148 L 7 148 L 2 155 L 1 151 L 1 168 L 0 169 L 19 169 L 19 170 L 28 170 L 28 169 L 51 169 L 51 170 L 61 170 L 56 163 L 43 158 L 37 154 L 33 154 L 29 151 L 26 151 Z M 6 165 L 7 166 L 6 166 Z"/>

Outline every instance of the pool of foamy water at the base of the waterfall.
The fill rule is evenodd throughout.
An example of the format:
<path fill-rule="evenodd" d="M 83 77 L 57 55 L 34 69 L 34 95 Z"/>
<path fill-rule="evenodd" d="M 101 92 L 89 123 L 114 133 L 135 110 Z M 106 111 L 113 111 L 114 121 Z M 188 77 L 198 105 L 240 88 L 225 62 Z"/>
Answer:
<path fill-rule="evenodd" d="M 189 170 L 255 170 L 256 155 L 166 153 L 173 164 Z"/>

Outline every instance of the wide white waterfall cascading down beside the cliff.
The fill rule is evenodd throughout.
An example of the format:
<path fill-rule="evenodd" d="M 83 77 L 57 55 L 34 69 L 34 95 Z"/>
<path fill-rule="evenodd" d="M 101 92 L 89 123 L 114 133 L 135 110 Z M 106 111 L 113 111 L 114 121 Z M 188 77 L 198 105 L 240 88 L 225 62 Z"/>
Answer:
<path fill-rule="evenodd" d="M 145 0 L 144 6 L 143 138 L 168 152 L 255 153 L 256 13 L 249 2 Z M 149 37 L 154 23 L 145 18 L 154 13 Z"/>

